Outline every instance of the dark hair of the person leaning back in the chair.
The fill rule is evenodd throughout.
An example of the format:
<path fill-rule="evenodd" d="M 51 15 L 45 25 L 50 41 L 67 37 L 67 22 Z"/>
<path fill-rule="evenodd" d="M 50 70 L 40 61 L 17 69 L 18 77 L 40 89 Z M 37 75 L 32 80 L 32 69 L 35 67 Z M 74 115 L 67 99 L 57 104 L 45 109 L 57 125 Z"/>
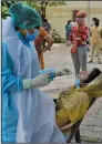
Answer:
<path fill-rule="evenodd" d="M 94 68 L 91 73 L 89 74 L 88 79 L 83 81 L 83 83 L 90 83 L 93 81 L 95 78 L 98 78 L 102 72 L 98 69 Z"/>

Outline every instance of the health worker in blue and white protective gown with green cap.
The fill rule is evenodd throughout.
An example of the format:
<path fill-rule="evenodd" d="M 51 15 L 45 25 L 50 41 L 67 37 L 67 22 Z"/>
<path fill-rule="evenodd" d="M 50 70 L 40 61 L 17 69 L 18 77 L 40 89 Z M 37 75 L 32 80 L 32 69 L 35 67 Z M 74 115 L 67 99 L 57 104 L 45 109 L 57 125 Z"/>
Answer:
<path fill-rule="evenodd" d="M 54 102 L 39 90 L 69 70 L 40 71 L 33 45 L 39 13 L 21 3 L 2 20 L 2 142 L 64 143 L 55 123 Z"/>

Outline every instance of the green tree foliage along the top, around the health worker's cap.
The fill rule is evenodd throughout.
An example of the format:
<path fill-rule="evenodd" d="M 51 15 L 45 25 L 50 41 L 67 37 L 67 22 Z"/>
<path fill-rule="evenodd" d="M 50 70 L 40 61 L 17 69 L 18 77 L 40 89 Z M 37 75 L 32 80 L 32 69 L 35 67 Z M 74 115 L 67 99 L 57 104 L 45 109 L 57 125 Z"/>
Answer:
<path fill-rule="evenodd" d="M 6 19 L 7 16 L 9 16 L 8 9 L 9 7 L 14 3 L 16 1 L 6 1 L 1 2 L 1 14 L 2 18 Z M 22 1 L 23 3 L 34 8 L 40 14 L 42 20 L 45 18 L 47 7 L 48 6 L 65 6 L 64 1 L 34 1 L 34 0 L 26 0 Z"/>

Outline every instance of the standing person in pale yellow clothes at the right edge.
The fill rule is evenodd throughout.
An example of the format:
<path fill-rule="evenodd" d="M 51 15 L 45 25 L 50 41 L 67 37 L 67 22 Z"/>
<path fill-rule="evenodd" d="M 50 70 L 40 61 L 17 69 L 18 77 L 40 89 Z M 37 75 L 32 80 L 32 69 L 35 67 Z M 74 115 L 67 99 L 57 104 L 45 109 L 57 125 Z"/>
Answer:
<path fill-rule="evenodd" d="M 96 19 L 94 21 L 94 25 L 91 27 L 91 60 L 89 63 L 93 62 L 94 53 L 98 55 L 98 62 L 101 64 L 100 58 L 100 49 L 101 49 L 101 41 L 102 41 L 102 28 L 100 27 L 100 20 Z"/>

